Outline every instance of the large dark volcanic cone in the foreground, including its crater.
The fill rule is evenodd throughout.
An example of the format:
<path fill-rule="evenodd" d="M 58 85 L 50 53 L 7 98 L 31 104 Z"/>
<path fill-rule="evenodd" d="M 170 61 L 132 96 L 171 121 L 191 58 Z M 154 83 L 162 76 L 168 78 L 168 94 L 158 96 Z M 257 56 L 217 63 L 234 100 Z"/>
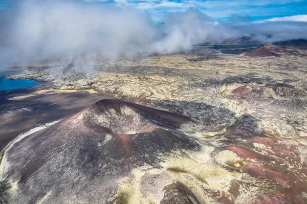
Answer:
<path fill-rule="evenodd" d="M 64 196 L 106 200 L 117 179 L 131 169 L 160 169 L 163 156 L 200 150 L 194 139 L 176 130 L 187 122 L 189 118 L 171 112 L 101 100 L 14 143 L 5 153 L 9 165 L 2 177 L 13 180 L 18 190 L 1 196 L 11 203 L 36 203 L 52 191 L 54 203 Z M 101 192 L 94 198 L 87 193 L 93 189 Z"/>

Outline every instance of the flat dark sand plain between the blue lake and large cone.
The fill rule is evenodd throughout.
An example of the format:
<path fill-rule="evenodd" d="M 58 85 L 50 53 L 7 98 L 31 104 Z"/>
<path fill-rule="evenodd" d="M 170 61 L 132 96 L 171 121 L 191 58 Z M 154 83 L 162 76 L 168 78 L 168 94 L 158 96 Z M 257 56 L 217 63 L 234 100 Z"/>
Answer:
<path fill-rule="evenodd" d="M 41 124 L 71 117 L 112 95 L 50 90 L 47 82 L 35 87 L 0 92 L 0 151 L 19 134 Z M 20 97 L 20 99 L 18 99 Z M 24 98 L 25 97 L 25 98 Z M 16 98 L 16 100 L 11 100 Z"/>

